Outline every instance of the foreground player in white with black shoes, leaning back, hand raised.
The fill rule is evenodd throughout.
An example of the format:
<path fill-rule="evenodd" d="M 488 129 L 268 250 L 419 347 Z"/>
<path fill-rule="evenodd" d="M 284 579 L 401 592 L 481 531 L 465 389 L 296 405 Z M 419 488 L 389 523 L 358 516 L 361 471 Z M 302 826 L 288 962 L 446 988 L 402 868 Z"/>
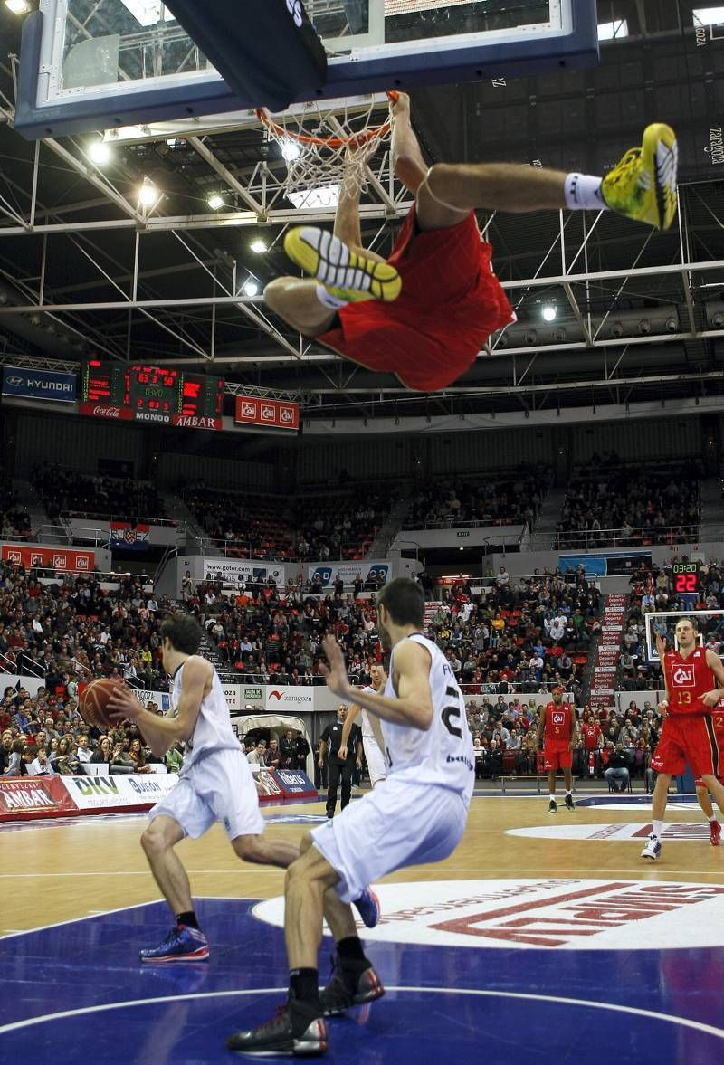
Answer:
<path fill-rule="evenodd" d="M 340 645 L 325 637 L 327 685 L 382 721 L 388 776 L 303 837 L 285 881 L 289 999 L 272 1020 L 230 1036 L 230 1050 L 324 1053 L 325 1015 L 384 994 L 362 949 L 350 901 L 365 884 L 395 869 L 442 862 L 460 841 L 475 781 L 473 741 L 449 662 L 422 634 L 424 610 L 422 589 L 408 577 L 396 577 L 378 593 L 379 635 L 392 649 L 383 694 L 356 691 Z M 336 957 L 334 974 L 319 992 L 323 916 Z"/>

